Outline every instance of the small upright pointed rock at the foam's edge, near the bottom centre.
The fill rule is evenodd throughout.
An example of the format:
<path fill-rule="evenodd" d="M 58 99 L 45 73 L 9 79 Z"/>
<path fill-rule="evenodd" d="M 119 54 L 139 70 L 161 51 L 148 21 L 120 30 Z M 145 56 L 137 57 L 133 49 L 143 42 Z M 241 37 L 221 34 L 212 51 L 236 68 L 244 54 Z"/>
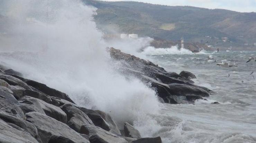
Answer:
<path fill-rule="evenodd" d="M 127 137 L 131 137 L 135 139 L 141 138 L 139 131 L 127 122 L 125 122 L 124 124 L 124 132 L 125 132 L 125 136 Z"/>

